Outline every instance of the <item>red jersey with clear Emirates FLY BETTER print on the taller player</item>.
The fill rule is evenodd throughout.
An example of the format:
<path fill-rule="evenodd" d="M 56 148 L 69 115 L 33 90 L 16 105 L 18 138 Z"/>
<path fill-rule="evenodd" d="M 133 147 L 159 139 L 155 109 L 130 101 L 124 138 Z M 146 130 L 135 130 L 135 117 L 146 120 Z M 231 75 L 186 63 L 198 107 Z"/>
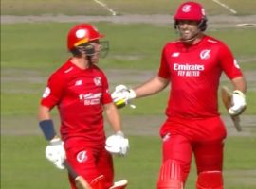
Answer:
<path fill-rule="evenodd" d="M 179 41 L 167 43 L 158 76 L 171 81 L 168 117 L 219 115 L 217 94 L 223 71 L 230 79 L 242 76 L 226 44 L 210 36 L 190 46 Z"/>

